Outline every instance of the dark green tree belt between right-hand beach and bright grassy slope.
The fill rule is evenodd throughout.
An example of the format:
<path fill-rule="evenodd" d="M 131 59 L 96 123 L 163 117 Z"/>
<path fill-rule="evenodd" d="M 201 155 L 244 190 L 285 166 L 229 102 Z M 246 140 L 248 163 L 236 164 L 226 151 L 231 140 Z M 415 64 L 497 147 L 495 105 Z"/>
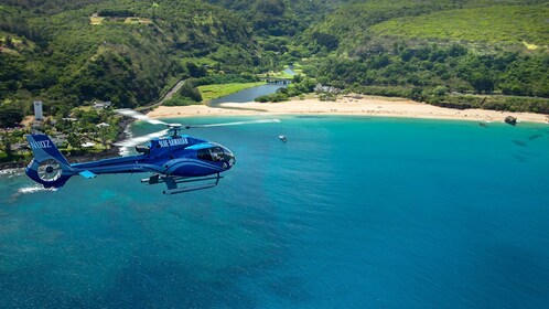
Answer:
<path fill-rule="evenodd" d="M 461 44 L 401 43 L 354 58 L 327 57 L 309 74 L 322 84 L 357 93 L 439 103 L 452 93 L 549 97 L 547 67 L 545 52 L 483 54 Z M 535 111 L 549 113 L 548 107 Z"/>

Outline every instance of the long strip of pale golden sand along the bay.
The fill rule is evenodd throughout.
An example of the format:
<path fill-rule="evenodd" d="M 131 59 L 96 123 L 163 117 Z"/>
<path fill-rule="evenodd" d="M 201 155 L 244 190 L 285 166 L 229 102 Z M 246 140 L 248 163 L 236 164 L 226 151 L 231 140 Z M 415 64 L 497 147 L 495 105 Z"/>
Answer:
<path fill-rule="evenodd" d="M 518 121 L 549 124 L 549 116 L 532 113 L 510 113 L 485 109 L 453 109 L 403 98 L 348 96 L 336 102 L 310 98 L 282 103 L 225 103 L 219 107 L 205 105 L 160 106 L 148 114 L 152 118 L 219 116 L 219 115 L 357 115 L 406 118 L 455 119 L 502 122 L 513 116 Z"/>

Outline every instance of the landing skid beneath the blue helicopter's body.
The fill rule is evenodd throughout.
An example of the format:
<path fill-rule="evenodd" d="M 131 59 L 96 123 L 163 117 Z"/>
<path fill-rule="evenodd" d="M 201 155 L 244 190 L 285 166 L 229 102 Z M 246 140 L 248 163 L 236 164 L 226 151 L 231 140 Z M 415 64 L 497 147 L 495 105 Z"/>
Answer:
<path fill-rule="evenodd" d="M 219 173 L 217 173 L 215 177 L 176 177 L 153 174 L 149 178 L 141 179 L 141 183 L 165 183 L 166 190 L 162 191 L 162 193 L 170 195 L 214 188 L 217 185 L 217 183 L 219 183 L 219 179 L 222 178 L 223 177 L 219 175 Z M 192 184 L 194 182 L 196 184 Z M 187 183 L 189 185 L 185 185 L 185 183 Z M 182 187 L 179 187 L 179 184 L 182 184 Z"/>

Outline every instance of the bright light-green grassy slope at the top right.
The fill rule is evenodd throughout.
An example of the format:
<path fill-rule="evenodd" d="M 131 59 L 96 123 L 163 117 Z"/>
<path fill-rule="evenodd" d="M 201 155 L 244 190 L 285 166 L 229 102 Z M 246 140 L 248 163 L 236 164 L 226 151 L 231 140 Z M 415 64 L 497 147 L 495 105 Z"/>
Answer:
<path fill-rule="evenodd" d="M 407 39 L 549 44 L 549 7 L 493 6 L 407 17 L 376 24 L 370 32 Z"/>

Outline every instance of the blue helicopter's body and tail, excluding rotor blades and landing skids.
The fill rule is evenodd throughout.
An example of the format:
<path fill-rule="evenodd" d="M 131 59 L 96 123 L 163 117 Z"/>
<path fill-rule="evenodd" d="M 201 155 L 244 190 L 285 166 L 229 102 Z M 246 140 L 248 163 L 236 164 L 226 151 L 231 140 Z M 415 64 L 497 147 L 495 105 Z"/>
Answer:
<path fill-rule="evenodd" d="M 35 140 L 30 143 L 31 147 L 35 147 L 33 151 L 44 151 L 46 154 L 35 156 L 25 173 L 46 188 L 63 187 L 76 174 L 94 178 L 105 173 L 152 172 L 161 174 L 163 179 L 175 180 L 213 174 L 218 177 L 220 172 L 229 170 L 235 164 L 235 156 L 227 148 L 186 135 L 152 139 L 148 147 L 136 148 L 141 154 L 74 164 L 68 164 L 63 157 L 60 158 L 61 153 L 51 156 L 51 152 L 57 149 L 47 149 L 53 145 L 47 136 L 31 137 Z"/>

